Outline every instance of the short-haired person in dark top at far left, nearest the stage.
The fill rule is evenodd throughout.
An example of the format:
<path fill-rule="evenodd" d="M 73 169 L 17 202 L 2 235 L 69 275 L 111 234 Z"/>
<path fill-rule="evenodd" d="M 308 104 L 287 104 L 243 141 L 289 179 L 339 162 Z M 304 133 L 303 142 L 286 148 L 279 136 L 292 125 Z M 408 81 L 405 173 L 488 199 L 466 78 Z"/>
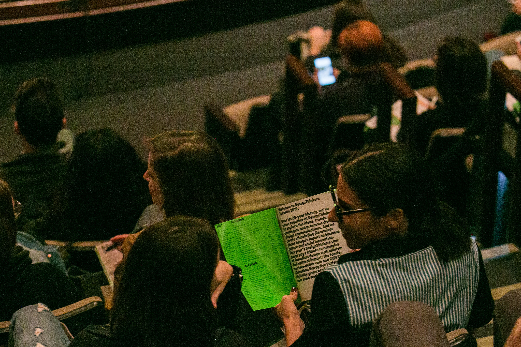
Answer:
<path fill-rule="evenodd" d="M 15 132 L 23 152 L 0 165 L 0 177 L 24 205 L 18 220 L 21 228 L 46 211 L 60 192 L 66 163 L 58 152 L 56 136 L 66 119 L 55 84 L 45 78 L 24 82 L 16 92 L 14 109 Z"/>

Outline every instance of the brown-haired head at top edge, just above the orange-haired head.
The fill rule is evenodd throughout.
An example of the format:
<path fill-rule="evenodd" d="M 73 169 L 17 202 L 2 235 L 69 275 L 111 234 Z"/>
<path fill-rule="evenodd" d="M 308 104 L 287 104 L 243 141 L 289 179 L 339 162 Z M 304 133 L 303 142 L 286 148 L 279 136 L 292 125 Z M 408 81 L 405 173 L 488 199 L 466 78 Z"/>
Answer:
<path fill-rule="evenodd" d="M 331 44 L 334 47 L 338 45 L 338 36 L 342 30 L 357 20 L 374 22 L 373 15 L 360 0 L 344 0 L 335 6 L 331 29 Z"/>

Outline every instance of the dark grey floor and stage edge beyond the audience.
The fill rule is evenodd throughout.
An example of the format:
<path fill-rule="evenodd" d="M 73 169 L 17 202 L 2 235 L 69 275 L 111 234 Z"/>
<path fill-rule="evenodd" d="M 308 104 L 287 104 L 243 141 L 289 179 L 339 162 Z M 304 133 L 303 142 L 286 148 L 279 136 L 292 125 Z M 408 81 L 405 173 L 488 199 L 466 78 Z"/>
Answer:
<path fill-rule="evenodd" d="M 499 31 L 504 0 L 367 0 L 410 59 L 445 35 Z M 282 76 L 287 36 L 329 28 L 334 1 L 0 0 L 0 160 L 21 150 L 16 87 L 56 81 L 73 133 L 110 127 L 144 156 L 143 136 L 203 130 L 202 105 L 266 95 Z"/>

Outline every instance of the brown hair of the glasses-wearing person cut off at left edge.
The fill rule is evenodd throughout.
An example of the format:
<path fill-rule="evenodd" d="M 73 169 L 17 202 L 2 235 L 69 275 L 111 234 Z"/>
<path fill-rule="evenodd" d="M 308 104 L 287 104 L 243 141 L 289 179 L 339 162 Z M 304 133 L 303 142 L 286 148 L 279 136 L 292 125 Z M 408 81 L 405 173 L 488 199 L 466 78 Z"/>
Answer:
<path fill-rule="evenodd" d="M 5 264 L 13 254 L 16 243 L 16 220 L 13 197 L 7 182 L 0 179 L 0 264 Z"/>

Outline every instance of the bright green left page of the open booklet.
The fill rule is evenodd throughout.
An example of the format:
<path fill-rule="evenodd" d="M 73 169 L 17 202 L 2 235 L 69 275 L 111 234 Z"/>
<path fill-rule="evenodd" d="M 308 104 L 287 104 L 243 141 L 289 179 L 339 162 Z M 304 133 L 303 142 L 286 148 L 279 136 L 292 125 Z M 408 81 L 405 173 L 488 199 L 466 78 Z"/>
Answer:
<path fill-rule="evenodd" d="M 240 266 L 242 293 L 253 311 L 274 307 L 296 287 L 275 209 L 217 224 L 229 264 Z"/>

